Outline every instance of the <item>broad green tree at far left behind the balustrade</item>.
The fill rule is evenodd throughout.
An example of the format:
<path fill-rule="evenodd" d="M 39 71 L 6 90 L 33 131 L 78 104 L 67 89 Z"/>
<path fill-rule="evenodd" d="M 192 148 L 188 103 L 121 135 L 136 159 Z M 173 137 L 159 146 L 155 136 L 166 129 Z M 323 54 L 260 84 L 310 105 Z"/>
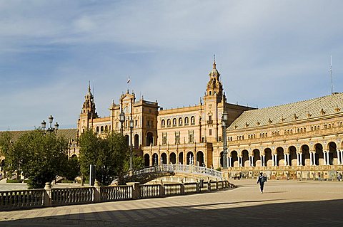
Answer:
<path fill-rule="evenodd" d="M 54 133 L 44 134 L 41 130 L 27 132 L 16 142 L 10 134 L 1 137 L 1 149 L 6 157 L 9 174 L 19 170 L 29 181 L 29 188 L 44 188 L 57 175 L 64 172 L 68 160 L 68 141 Z"/>

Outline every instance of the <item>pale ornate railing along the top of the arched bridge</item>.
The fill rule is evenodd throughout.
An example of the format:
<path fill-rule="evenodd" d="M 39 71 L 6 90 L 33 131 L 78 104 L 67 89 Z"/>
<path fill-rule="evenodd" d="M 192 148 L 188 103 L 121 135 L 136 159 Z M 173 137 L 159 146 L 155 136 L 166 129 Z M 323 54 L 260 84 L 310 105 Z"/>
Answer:
<path fill-rule="evenodd" d="M 124 174 L 124 179 L 130 178 L 132 176 L 163 172 L 197 174 L 202 176 L 209 176 L 214 179 L 223 179 L 223 173 L 221 171 L 209 169 L 206 167 L 183 164 L 162 164 L 155 167 L 144 167 L 142 169 L 129 170 L 126 172 L 126 174 Z"/>

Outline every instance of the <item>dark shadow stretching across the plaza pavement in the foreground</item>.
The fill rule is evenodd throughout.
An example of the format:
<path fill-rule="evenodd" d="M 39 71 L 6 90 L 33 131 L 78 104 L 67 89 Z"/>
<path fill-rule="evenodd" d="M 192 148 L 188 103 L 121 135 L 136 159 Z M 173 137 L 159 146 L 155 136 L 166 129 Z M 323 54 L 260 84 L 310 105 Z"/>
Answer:
<path fill-rule="evenodd" d="M 80 214 L 1 221 L 0 226 L 343 226 L 342 199 L 280 204 L 274 201 L 275 204 L 265 205 L 257 205 L 258 202 L 92 213 L 82 213 L 80 207 Z M 240 203 L 249 205 L 234 207 Z M 220 208 L 228 205 L 232 208 Z"/>

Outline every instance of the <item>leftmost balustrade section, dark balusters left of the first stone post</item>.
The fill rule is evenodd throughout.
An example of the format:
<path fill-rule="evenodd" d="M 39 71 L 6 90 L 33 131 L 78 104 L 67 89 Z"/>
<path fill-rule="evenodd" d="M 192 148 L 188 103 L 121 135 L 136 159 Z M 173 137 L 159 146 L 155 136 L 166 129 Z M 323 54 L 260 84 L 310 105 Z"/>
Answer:
<path fill-rule="evenodd" d="M 43 206 L 44 189 L 0 191 L 0 210 Z"/>

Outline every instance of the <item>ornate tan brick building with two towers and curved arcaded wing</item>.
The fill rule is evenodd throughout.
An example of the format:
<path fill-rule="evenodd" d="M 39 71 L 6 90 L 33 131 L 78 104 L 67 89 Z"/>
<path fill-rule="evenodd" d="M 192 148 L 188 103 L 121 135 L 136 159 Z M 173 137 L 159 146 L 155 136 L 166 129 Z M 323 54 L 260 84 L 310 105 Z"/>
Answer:
<path fill-rule="evenodd" d="M 136 155 L 146 166 L 195 164 L 222 167 L 228 176 L 255 176 L 259 171 L 276 178 L 336 176 L 343 164 L 343 93 L 254 109 L 227 103 L 214 61 L 206 93 L 199 105 L 163 110 L 157 102 L 134 93 L 112 102 L 109 117 L 96 114 L 89 86 L 79 115 L 78 136 L 92 128 L 100 136 L 120 131 L 119 114 L 129 140 L 133 120 Z M 227 112 L 227 160 L 223 160 L 222 113 Z"/>

